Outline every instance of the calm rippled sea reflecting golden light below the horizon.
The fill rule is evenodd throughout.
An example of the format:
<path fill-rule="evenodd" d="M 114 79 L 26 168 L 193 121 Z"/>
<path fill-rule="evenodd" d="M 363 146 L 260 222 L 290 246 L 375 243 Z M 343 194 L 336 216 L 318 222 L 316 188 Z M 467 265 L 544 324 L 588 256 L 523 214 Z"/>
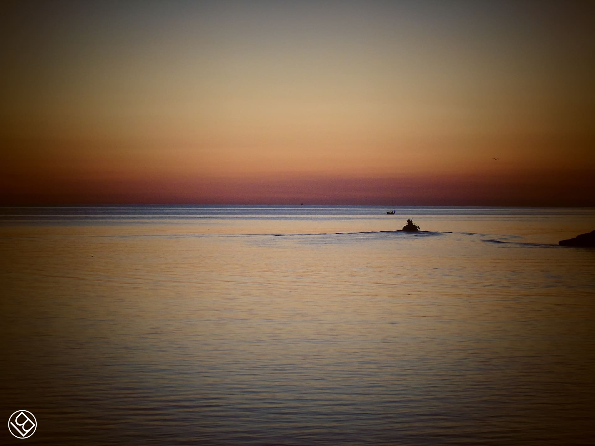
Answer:
<path fill-rule="evenodd" d="M 593 444 L 595 209 L 390 209 L 0 208 L 0 443 Z"/>

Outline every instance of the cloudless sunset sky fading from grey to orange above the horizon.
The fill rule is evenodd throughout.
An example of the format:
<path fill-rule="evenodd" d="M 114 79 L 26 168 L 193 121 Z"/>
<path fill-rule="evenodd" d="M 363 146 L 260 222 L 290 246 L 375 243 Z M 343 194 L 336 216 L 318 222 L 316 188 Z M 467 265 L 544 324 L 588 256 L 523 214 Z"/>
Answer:
<path fill-rule="evenodd" d="M 12 1 L 0 20 L 0 204 L 595 206 L 593 2 Z"/>

